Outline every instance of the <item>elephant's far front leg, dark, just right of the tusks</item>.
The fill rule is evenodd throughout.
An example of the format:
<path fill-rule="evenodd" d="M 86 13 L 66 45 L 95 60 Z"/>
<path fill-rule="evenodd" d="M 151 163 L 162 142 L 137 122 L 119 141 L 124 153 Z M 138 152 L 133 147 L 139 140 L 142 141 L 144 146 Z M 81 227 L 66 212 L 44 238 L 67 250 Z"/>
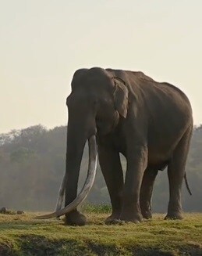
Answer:
<path fill-rule="evenodd" d="M 108 146 L 98 146 L 101 171 L 104 175 L 108 193 L 112 203 L 112 215 L 106 220 L 106 224 L 112 224 L 120 218 L 122 210 L 123 175 L 119 152 Z"/>

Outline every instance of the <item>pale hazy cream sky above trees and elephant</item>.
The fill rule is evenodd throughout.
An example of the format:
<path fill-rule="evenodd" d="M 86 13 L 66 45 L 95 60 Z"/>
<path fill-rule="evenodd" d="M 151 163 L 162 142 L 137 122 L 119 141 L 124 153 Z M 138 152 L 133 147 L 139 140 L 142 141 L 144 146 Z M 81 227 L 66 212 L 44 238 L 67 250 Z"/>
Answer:
<path fill-rule="evenodd" d="M 201 0 L 0 0 L 0 132 L 66 124 L 80 67 L 179 86 L 202 124 Z"/>

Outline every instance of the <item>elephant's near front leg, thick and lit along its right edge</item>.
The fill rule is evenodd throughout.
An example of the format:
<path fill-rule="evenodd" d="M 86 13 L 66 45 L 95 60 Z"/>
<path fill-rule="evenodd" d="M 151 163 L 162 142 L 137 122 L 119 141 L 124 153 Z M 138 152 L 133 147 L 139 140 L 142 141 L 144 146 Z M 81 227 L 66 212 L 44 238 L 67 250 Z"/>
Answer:
<path fill-rule="evenodd" d="M 127 170 L 120 218 L 126 222 L 141 222 L 140 186 L 147 168 L 147 146 L 129 150 L 126 158 Z"/>

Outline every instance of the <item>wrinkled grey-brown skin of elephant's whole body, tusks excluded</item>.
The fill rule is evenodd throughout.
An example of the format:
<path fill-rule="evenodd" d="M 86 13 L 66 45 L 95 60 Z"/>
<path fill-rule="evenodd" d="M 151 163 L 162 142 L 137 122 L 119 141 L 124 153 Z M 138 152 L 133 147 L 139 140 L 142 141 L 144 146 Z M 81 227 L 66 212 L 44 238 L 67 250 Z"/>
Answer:
<path fill-rule="evenodd" d="M 189 99 L 179 88 L 156 82 L 142 72 L 94 67 L 76 70 L 66 103 L 66 205 L 76 197 L 84 144 L 96 135 L 112 202 L 112 215 L 106 223 L 151 218 L 154 180 L 166 166 L 170 197 L 165 218 L 183 218 L 181 187 L 193 117 Z M 119 153 L 127 161 L 125 184 Z M 66 215 L 68 225 L 85 222 L 77 210 Z"/>

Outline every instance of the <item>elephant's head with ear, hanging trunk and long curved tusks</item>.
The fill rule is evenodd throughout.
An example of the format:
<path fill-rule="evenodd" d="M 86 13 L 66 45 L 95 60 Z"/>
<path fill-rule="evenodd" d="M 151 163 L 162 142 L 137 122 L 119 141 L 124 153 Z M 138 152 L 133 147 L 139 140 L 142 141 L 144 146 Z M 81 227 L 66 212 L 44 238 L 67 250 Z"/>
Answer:
<path fill-rule="evenodd" d="M 95 136 L 107 135 L 126 118 L 128 89 L 125 81 L 115 77 L 109 70 L 94 67 L 77 70 L 73 75 L 72 92 L 66 100 L 69 112 L 66 145 L 66 175 L 59 192 L 56 211 L 41 218 L 52 218 L 74 211 L 93 186 L 97 146 Z M 89 170 L 87 180 L 79 196 L 77 182 L 85 143 L 89 142 Z M 66 207 L 61 209 L 66 191 Z"/>

